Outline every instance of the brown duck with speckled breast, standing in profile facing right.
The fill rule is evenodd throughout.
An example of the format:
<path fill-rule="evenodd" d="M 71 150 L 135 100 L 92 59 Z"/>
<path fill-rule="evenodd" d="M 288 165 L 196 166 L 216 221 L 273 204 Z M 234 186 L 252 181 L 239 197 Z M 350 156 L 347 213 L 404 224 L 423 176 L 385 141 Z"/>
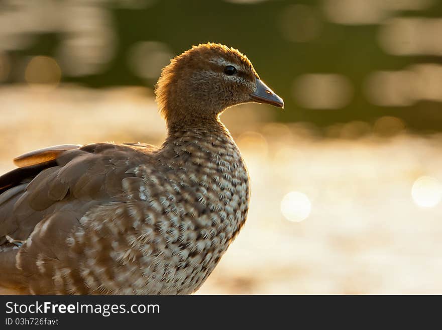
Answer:
<path fill-rule="evenodd" d="M 243 227 L 250 179 L 225 109 L 284 107 L 239 50 L 193 46 L 155 87 L 167 137 L 67 144 L 0 176 L 0 287 L 22 294 L 191 294 Z M 11 291 L 12 290 L 12 291 Z"/>

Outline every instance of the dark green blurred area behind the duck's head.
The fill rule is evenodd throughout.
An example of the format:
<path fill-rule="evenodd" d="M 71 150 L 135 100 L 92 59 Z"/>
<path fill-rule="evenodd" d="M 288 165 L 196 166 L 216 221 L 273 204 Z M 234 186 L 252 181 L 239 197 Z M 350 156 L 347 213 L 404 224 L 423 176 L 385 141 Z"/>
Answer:
<path fill-rule="evenodd" d="M 264 1 L 241 5 L 220 0 L 159 0 L 146 9 L 111 7 L 118 48 L 107 71 L 93 76 L 63 77 L 63 81 L 92 87 L 143 85 L 146 81 L 136 77 L 127 65 L 127 50 L 134 43 L 161 41 L 179 54 L 191 45 L 213 41 L 233 46 L 248 55 L 261 78 L 286 102 L 285 111 L 275 110 L 281 121 L 307 121 L 324 127 L 353 120 L 373 122 L 391 115 L 403 119 L 407 127 L 415 131 L 442 130 L 440 103 L 420 101 L 409 107 L 379 107 L 370 104 L 362 90 L 365 79 L 375 70 L 399 70 L 415 63 L 441 63 L 440 57 L 386 54 L 376 39 L 378 25 L 344 26 L 329 23 L 323 16 L 317 39 L 306 43 L 288 41 L 278 21 L 290 4 L 316 6 L 319 2 Z M 442 2 L 427 11 L 396 12 L 395 15 L 440 17 Z M 57 42 L 57 35 L 40 35 L 31 48 L 11 53 L 13 63 L 22 56 L 54 56 Z M 355 89 L 352 102 L 338 110 L 301 108 L 293 98 L 293 80 L 300 74 L 314 72 L 347 76 Z M 151 81 L 149 87 L 154 83 Z"/>

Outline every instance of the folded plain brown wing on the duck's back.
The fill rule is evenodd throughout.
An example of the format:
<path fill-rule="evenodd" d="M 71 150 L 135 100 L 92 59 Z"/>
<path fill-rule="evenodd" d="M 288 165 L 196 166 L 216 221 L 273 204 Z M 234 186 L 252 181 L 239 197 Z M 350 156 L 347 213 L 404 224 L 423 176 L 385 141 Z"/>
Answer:
<path fill-rule="evenodd" d="M 0 176 L 0 246 L 6 236 L 25 241 L 60 204 L 117 198 L 123 179 L 135 176 L 128 170 L 149 162 L 154 149 L 140 143 L 62 145 L 17 157 L 21 167 Z"/>

